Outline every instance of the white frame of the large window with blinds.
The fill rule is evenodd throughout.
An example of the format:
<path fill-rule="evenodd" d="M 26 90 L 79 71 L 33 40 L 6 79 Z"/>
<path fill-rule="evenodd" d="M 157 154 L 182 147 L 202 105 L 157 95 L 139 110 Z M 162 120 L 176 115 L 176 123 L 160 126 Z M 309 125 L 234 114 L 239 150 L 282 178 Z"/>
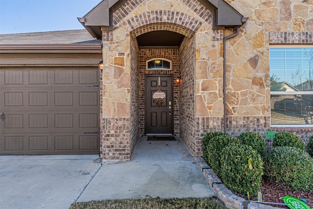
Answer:
<path fill-rule="evenodd" d="M 269 76 L 271 76 L 271 70 L 270 70 L 270 48 L 312 48 L 313 49 L 313 45 L 299 45 L 299 44 L 292 44 L 292 45 L 286 45 L 286 44 L 281 44 L 281 45 L 269 45 L 268 48 L 268 61 L 269 61 Z M 270 87 L 270 84 L 269 84 Z M 270 89 L 269 89 L 270 90 Z M 279 92 L 279 91 L 270 91 L 270 97 L 271 95 L 297 95 L 297 94 L 301 94 L 301 95 L 313 95 L 313 91 L 307 91 L 307 92 Z M 271 109 L 271 98 L 269 98 L 270 101 L 270 108 L 269 108 L 269 112 L 270 112 L 270 127 L 300 127 L 300 128 L 306 128 L 306 127 L 313 127 L 313 124 L 272 124 L 272 109 Z"/>

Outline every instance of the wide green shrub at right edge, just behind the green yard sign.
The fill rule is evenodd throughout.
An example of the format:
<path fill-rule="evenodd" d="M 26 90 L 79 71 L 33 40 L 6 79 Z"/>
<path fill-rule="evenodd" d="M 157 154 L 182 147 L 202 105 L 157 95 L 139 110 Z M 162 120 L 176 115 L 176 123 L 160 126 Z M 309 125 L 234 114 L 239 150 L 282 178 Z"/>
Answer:
<path fill-rule="evenodd" d="M 294 190 L 313 191 L 313 158 L 304 150 L 274 147 L 266 159 L 264 174 Z"/>

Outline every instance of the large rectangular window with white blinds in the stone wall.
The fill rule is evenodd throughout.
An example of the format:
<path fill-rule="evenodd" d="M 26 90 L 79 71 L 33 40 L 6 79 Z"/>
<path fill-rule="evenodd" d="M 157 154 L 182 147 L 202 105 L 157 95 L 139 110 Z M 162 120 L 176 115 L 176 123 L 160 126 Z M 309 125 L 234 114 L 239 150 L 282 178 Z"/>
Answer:
<path fill-rule="evenodd" d="M 274 126 L 313 124 L 313 47 L 271 47 L 270 110 Z"/>

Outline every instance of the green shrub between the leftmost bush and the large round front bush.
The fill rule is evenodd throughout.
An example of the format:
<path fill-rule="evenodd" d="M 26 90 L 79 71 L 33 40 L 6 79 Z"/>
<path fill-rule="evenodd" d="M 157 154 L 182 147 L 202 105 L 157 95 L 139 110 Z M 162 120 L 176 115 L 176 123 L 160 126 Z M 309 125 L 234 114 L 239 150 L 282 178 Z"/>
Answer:
<path fill-rule="evenodd" d="M 216 136 L 209 140 L 207 144 L 207 163 L 211 166 L 216 175 L 220 175 L 221 152 L 230 143 L 240 144 L 239 140 L 231 136 Z"/>

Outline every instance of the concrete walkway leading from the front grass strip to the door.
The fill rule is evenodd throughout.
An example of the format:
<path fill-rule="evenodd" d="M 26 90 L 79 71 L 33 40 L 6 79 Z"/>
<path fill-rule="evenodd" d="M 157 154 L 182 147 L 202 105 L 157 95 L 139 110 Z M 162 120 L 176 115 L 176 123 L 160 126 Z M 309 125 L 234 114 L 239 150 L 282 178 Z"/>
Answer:
<path fill-rule="evenodd" d="M 142 138 L 130 163 L 102 165 L 77 202 L 211 196 L 213 190 L 183 142 Z"/>

